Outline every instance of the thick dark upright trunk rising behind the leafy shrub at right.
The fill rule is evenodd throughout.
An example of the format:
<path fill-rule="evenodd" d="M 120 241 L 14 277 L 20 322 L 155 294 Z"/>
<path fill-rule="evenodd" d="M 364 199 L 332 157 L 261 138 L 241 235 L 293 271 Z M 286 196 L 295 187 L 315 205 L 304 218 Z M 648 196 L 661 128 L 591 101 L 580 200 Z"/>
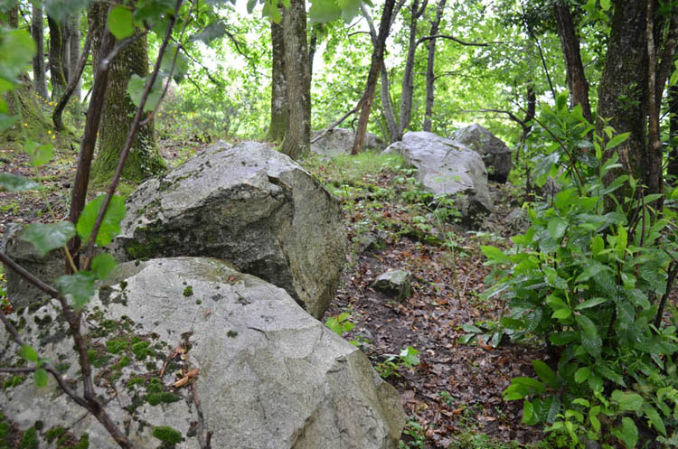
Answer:
<path fill-rule="evenodd" d="M 630 133 L 626 142 L 605 152 L 606 160 L 614 153 L 619 154 L 619 162 L 623 165 L 621 169 L 608 173 L 607 182 L 619 174 L 629 173 L 639 182 L 649 185 L 649 161 L 645 145 L 648 76 L 646 2 L 617 0 L 615 4 L 605 67 L 598 85 L 596 125 L 600 136 L 606 123 L 617 134 Z M 617 192 L 620 198 L 628 193 L 621 189 Z"/>

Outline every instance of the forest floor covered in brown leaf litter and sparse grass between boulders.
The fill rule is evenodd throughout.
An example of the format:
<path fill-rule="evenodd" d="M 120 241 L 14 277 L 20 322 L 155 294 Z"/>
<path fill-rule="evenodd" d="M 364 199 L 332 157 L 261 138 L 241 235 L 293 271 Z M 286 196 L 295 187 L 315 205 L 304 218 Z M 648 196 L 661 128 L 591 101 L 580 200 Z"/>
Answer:
<path fill-rule="evenodd" d="M 204 146 L 165 141 L 161 152 L 175 165 Z M 52 163 L 37 173 L 59 220 L 68 210 L 76 159 L 72 150 L 57 151 Z M 0 147 L 0 164 L 4 172 L 36 175 L 25 154 L 6 147 Z M 448 217 L 441 220 L 454 215 L 454 208 L 432 210 L 421 202 L 427 196 L 401 161 L 364 154 L 305 164 L 342 199 L 350 241 L 342 282 L 325 319 L 348 313 L 354 328 L 344 337 L 357 341 L 400 392 L 410 421 L 401 447 L 508 449 L 539 444 L 541 431 L 520 422 L 522 402 L 505 402 L 502 392 L 513 377 L 534 376 L 532 360 L 546 355 L 536 344 L 488 344 L 504 304 L 481 298 L 491 269 L 484 265 L 480 246 L 510 244 L 514 229 L 507 229 L 504 218 L 520 206 L 517 189 L 493 184 L 496 210 L 478 231 L 470 232 Z M 43 197 L 0 192 L 0 233 L 9 223 L 37 220 L 52 220 Z M 412 295 L 401 302 L 371 286 L 390 268 L 412 274 Z M 463 325 L 489 333 L 462 344 Z M 419 364 L 408 367 L 400 359 L 408 347 L 419 351 Z"/>

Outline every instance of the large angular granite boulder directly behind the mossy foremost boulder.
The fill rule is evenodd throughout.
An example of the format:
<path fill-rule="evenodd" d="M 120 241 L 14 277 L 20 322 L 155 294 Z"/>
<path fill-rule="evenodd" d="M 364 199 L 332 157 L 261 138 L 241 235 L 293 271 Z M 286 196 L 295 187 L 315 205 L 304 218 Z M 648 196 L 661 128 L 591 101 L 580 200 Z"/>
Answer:
<path fill-rule="evenodd" d="M 268 145 L 208 149 L 127 199 L 118 259 L 201 256 L 287 290 L 316 318 L 344 266 L 339 202 Z"/>

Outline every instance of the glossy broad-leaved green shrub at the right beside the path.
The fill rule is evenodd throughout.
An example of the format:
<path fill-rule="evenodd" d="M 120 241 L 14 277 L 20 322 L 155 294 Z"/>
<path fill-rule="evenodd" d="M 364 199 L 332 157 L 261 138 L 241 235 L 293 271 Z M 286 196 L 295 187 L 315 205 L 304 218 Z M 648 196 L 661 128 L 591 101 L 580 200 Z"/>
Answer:
<path fill-rule="evenodd" d="M 676 319 L 654 326 L 667 267 L 678 257 L 675 204 L 653 210 L 659 195 L 644 195 L 627 176 L 606 185 L 617 156 L 601 161 L 600 139 L 585 141 L 591 126 L 580 110 L 559 98 L 542 120 L 570 153 L 553 145 L 535 173 L 558 177 L 561 190 L 529 210 L 532 224 L 513 238 L 514 249 L 483 248 L 497 279 L 485 295 L 507 300 L 501 324 L 513 340 L 536 336 L 556 357 L 534 360 L 539 379 L 513 379 L 504 398 L 523 399 L 523 422 L 568 435 L 572 447 L 582 437 L 609 441 L 603 420 L 626 447 L 638 442 L 638 426 L 662 441 L 678 424 Z M 607 147 L 625 139 L 614 136 Z M 575 153 L 582 148 L 598 157 Z M 583 163 L 571 164 L 570 154 Z M 632 195 L 606 210 L 622 186 Z"/>

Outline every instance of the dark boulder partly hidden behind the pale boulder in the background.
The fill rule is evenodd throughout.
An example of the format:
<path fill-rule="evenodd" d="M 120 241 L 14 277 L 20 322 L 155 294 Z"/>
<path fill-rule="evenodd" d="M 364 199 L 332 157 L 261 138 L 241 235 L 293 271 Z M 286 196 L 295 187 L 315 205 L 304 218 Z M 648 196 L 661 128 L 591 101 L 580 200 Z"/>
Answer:
<path fill-rule="evenodd" d="M 487 128 L 474 124 L 466 126 L 450 137 L 452 140 L 468 146 L 483 156 L 490 181 L 506 182 L 511 173 L 511 148 L 494 136 Z"/>

